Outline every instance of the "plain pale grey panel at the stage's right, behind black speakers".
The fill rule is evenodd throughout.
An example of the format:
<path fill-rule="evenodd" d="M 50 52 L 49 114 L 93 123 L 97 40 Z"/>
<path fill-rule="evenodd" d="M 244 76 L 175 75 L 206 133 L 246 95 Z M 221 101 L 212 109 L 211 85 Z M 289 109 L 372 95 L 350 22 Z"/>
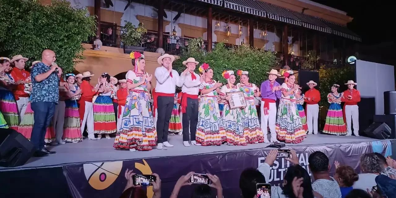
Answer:
<path fill-rule="evenodd" d="M 394 82 L 394 66 L 356 61 L 357 89 L 362 97 L 375 97 L 375 114 L 384 114 L 384 92 L 394 91 Z"/>

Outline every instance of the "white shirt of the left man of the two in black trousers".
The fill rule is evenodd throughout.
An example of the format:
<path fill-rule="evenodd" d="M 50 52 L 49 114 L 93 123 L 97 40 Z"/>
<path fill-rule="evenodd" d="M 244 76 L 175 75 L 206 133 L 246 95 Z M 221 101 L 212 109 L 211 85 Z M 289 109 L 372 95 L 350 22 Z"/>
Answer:
<path fill-rule="evenodd" d="M 172 77 L 169 75 L 168 69 L 164 66 L 157 67 L 154 72 L 154 76 L 157 80 L 155 91 L 158 93 L 175 93 L 175 88 L 181 86 L 179 73 L 176 70 L 172 70 Z"/>

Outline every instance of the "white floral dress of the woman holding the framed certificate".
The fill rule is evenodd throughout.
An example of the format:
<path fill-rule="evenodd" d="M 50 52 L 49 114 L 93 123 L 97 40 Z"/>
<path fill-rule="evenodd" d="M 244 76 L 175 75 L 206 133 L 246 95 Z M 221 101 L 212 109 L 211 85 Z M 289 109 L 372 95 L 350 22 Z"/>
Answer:
<path fill-rule="evenodd" d="M 239 91 L 235 85 L 228 85 L 221 88 L 221 95 L 225 96 L 228 92 Z M 227 144 L 236 146 L 246 146 L 246 138 L 244 136 L 244 116 L 240 108 L 230 109 L 228 101 L 224 101 L 224 112 L 221 116 L 224 122 L 224 128 L 227 135 Z"/>

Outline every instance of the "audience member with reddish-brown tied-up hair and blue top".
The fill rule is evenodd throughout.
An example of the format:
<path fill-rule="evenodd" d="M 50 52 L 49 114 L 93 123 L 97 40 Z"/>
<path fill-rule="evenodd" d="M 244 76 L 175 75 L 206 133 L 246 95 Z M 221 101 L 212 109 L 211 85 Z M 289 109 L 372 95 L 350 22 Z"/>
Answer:
<path fill-rule="evenodd" d="M 345 198 L 346 195 L 353 190 L 352 185 L 355 181 L 358 181 L 359 175 L 355 173 L 355 170 L 350 166 L 339 166 L 337 161 L 335 161 L 334 164 L 336 169 L 334 179 L 340 186 L 342 198 Z"/>

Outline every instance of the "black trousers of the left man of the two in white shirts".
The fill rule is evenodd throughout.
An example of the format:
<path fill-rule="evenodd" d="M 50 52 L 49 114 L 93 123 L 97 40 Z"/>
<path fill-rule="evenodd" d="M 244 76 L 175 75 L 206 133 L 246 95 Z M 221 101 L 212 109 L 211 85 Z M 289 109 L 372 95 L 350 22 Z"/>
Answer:
<path fill-rule="evenodd" d="M 168 141 L 169 120 L 171 119 L 175 98 L 158 96 L 157 99 L 157 143 Z"/>

